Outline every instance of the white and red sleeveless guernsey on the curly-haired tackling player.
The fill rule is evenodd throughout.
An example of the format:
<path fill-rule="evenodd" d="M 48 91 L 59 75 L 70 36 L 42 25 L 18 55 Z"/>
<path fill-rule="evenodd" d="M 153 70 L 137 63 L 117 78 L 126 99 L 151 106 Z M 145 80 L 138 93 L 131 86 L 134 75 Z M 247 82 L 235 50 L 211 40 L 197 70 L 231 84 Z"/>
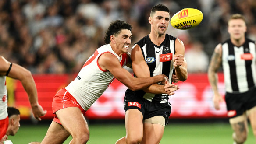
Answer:
<path fill-rule="evenodd" d="M 98 63 L 98 58 L 103 53 L 115 55 L 121 67 L 124 67 L 127 63 L 127 54 L 124 53 L 121 57 L 118 56 L 110 44 L 101 46 L 89 57 L 75 80 L 65 88 L 84 110 L 88 110 L 115 79 L 108 70 L 101 69 Z"/>

